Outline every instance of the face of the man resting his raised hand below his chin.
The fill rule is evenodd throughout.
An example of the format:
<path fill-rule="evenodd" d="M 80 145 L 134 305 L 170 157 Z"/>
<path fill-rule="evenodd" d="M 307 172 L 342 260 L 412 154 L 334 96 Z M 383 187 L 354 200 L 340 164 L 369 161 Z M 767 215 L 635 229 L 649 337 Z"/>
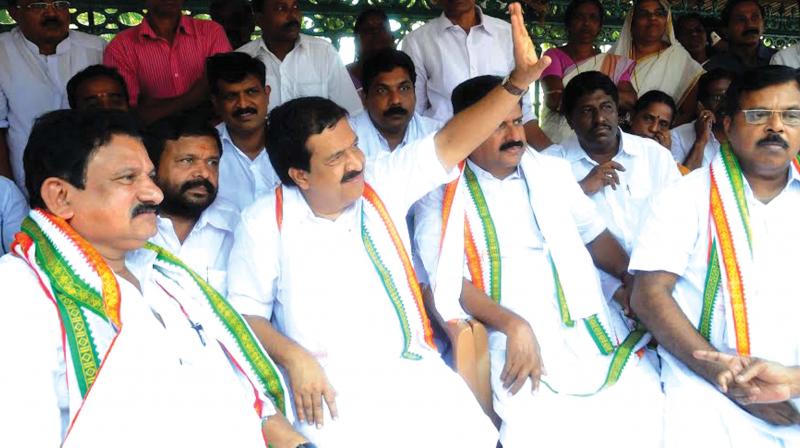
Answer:
<path fill-rule="evenodd" d="M 567 117 L 581 147 L 608 150 L 617 145 L 619 116 L 614 98 L 602 90 L 582 96 Z"/>

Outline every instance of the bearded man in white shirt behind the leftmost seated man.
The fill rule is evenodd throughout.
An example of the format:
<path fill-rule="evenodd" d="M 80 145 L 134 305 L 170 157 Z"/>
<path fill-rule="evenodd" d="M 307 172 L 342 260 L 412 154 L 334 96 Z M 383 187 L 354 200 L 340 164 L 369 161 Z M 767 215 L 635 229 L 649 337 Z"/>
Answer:
<path fill-rule="evenodd" d="M 240 210 L 217 196 L 222 145 L 216 129 L 202 116 L 173 115 L 148 128 L 145 144 L 164 193 L 158 233 L 150 241 L 184 260 L 224 297 Z"/>

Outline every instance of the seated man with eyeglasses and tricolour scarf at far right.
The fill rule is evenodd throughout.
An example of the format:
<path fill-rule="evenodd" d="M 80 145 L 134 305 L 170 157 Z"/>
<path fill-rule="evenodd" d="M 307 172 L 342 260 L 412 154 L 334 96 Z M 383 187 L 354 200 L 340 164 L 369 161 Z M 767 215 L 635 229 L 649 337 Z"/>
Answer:
<path fill-rule="evenodd" d="M 629 269 L 631 306 L 659 341 L 666 448 L 800 446 L 797 398 L 751 404 L 717 388 L 727 366 L 697 350 L 800 365 L 800 80 L 785 66 L 733 81 L 728 142 L 654 198 Z"/>

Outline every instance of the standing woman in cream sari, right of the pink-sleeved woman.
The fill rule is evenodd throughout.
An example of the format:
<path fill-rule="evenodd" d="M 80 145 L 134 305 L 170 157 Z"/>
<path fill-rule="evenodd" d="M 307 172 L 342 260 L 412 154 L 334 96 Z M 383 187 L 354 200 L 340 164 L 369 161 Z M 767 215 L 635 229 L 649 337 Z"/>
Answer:
<path fill-rule="evenodd" d="M 705 71 L 675 38 L 669 3 L 635 0 L 611 53 L 636 61 L 631 84 L 638 95 L 661 90 L 675 100 L 676 126 L 694 118 L 697 80 Z"/>

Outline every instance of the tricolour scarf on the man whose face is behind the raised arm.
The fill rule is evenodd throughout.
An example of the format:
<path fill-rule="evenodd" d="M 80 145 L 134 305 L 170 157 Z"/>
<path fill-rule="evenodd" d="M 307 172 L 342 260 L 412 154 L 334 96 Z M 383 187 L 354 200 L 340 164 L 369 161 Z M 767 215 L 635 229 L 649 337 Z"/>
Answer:
<path fill-rule="evenodd" d="M 598 390 L 570 393 L 590 395 L 619 379 L 644 332 L 633 331 L 619 344 L 609 336 L 607 309 L 602 302 L 591 257 L 575 226 L 564 225 L 574 222 L 569 211 L 546 194 L 548 186 L 543 179 L 547 179 L 547 168 L 537 157 L 526 153 L 520 162 L 520 170 L 528 187 L 533 219 L 544 239 L 561 323 L 566 328 L 573 328 L 576 320 L 582 321 L 599 353 L 610 357 L 605 381 Z M 458 216 L 464 216 L 463 234 L 462 226 L 457 224 Z M 448 221 L 454 224 L 448 226 Z M 456 266 L 452 257 L 453 248 L 458 247 L 463 247 L 462 266 L 469 273 L 473 285 L 495 302 L 502 303 L 502 263 L 497 230 L 478 179 L 468 164 L 463 165 L 459 179 L 445 187 L 442 204 L 441 248 L 432 285 L 437 308 L 441 308 L 445 319 L 458 316 L 458 311 L 453 309 L 458 304 L 453 300 L 457 285 L 451 280 L 456 275 L 448 269 Z"/>

